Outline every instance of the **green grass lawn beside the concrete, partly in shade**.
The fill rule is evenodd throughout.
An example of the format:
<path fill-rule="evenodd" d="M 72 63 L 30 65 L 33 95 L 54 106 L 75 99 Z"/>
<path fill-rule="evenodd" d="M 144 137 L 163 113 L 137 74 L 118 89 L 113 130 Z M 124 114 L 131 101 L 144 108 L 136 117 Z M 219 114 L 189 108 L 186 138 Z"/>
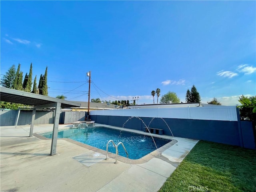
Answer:
<path fill-rule="evenodd" d="M 256 192 L 256 151 L 199 141 L 159 192 Z"/>

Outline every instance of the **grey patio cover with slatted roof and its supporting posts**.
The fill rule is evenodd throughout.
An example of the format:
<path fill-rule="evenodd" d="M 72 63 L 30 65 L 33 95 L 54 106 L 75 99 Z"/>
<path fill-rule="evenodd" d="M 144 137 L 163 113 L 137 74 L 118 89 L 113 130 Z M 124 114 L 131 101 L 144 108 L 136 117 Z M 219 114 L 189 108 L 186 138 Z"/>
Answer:
<path fill-rule="evenodd" d="M 25 105 L 34 106 L 32 112 L 32 120 L 30 125 L 30 134 L 33 135 L 33 128 L 36 116 L 36 109 L 38 108 L 55 108 L 53 132 L 52 132 L 52 145 L 50 155 L 56 154 L 57 138 L 58 138 L 58 126 L 60 120 L 60 108 L 70 108 L 70 107 L 80 107 L 80 103 L 71 102 L 63 99 L 53 98 L 49 96 L 43 96 L 39 94 L 34 94 L 30 92 L 19 91 L 15 89 L 0 87 L 0 101 L 20 103 Z M 18 123 L 20 110 L 18 111 L 18 116 L 16 124 Z"/>

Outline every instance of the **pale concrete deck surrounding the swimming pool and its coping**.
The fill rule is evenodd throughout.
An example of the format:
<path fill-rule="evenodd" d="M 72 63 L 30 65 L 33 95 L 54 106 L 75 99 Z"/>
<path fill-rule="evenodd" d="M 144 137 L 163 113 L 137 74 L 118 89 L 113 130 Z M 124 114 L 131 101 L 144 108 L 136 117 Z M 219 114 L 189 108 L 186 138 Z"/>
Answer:
<path fill-rule="evenodd" d="M 67 126 L 59 125 L 59 129 Z M 34 133 L 52 128 L 53 124 L 34 125 Z M 198 142 L 174 137 L 178 142 L 160 156 L 135 164 L 120 160 L 114 164 L 114 158 L 105 160 L 104 151 L 64 139 L 58 139 L 57 154 L 50 156 L 51 140 L 28 137 L 29 131 L 30 125 L 0 127 L 1 192 L 156 192 Z"/>

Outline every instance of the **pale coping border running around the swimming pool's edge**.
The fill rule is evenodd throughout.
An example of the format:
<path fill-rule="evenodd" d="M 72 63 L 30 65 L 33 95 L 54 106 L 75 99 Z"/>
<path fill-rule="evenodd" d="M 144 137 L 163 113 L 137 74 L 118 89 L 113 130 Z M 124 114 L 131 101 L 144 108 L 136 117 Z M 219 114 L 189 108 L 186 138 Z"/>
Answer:
<path fill-rule="evenodd" d="M 166 149 L 170 148 L 171 146 L 173 146 L 174 144 L 176 144 L 178 142 L 174 138 L 170 138 L 170 136 L 150 134 L 150 133 L 147 133 L 147 132 L 144 132 L 144 131 L 132 130 L 132 129 L 128 129 L 128 128 L 120 128 L 120 127 L 109 126 L 109 125 L 104 125 L 104 124 L 97 124 L 94 127 L 100 127 L 100 126 L 104 126 L 106 128 L 117 129 L 117 130 L 124 130 L 125 129 L 124 131 L 127 131 L 127 132 L 133 132 L 133 133 L 137 133 L 137 134 L 144 134 L 144 135 L 148 135 L 148 136 L 154 136 L 154 137 L 158 137 L 158 138 L 164 138 L 164 139 L 172 140 L 172 141 L 168 142 L 167 144 L 163 145 L 162 147 L 160 147 L 160 148 L 150 152 L 149 154 L 143 156 L 140 159 L 134 160 L 134 159 L 129 159 L 129 158 L 120 156 L 120 155 L 117 156 L 117 160 L 119 160 L 121 162 L 124 162 L 124 163 L 127 163 L 127 164 L 143 164 L 143 163 L 146 163 L 149 160 L 151 160 L 152 158 L 161 156 L 162 152 L 164 152 Z M 65 128 L 61 128 L 59 130 L 64 130 L 64 129 L 69 129 L 69 128 L 72 128 L 72 127 L 68 126 L 68 127 L 65 127 Z M 42 131 L 42 132 L 34 133 L 33 136 L 35 136 L 35 137 L 37 137 L 37 138 L 39 138 L 41 140 L 52 140 L 51 138 L 46 138 L 46 137 L 40 135 L 40 134 L 45 133 L 45 132 L 49 132 L 49 130 L 48 131 Z M 107 153 L 106 150 L 102 150 L 102 149 L 99 149 L 99 148 L 96 148 L 96 147 L 93 147 L 93 146 L 90 146 L 90 145 L 87 145 L 87 144 L 83 144 L 81 142 L 78 142 L 78 141 L 75 141 L 75 140 L 72 140 L 72 139 L 69 139 L 69 138 L 58 138 L 58 140 L 59 139 L 60 140 L 66 140 L 68 142 L 71 142 L 73 144 L 76 144 L 78 146 L 86 148 L 88 150 L 92 150 L 94 152 L 98 152 L 98 153 L 103 154 L 103 155 Z M 116 154 L 108 152 L 108 157 L 116 159 Z"/>

